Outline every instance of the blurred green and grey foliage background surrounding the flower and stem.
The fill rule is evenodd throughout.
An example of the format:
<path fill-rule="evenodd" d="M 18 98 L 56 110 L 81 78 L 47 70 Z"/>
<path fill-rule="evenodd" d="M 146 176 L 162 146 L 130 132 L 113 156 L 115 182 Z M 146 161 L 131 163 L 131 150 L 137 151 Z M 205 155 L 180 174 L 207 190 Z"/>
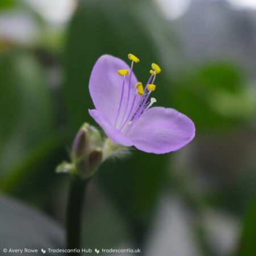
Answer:
<path fill-rule="evenodd" d="M 105 53 L 137 55 L 142 82 L 159 64 L 157 105 L 188 115 L 196 137 L 106 161 L 82 246 L 256 255 L 254 0 L 1 0 L 0 250 L 64 247 L 69 176 L 55 167 L 82 123 L 96 125 L 88 80 Z"/>

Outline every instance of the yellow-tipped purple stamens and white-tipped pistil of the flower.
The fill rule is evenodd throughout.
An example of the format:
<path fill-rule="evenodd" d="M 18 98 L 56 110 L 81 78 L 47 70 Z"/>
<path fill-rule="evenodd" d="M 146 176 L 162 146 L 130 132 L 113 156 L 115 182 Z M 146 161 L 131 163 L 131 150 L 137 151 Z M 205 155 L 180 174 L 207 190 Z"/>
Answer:
<path fill-rule="evenodd" d="M 131 60 L 131 67 L 130 72 L 126 69 L 120 69 L 118 70 L 118 75 L 123 76 L 123 82 L 122 82 L 122 91 L 121 91 L 121 97 L 119 101 L 119 106 L 117 110 L 117 116 L 115 118 L 114 126 L 118 129 L 123 131 L 123 133 L 127 133 L 131 127 L 134 126 L 134 124 L 138 121 L 139 118 L 142 117 L 144 113 L 147 112 L 147 110 L 156 102 L 155 98 L 150 98 L 150 101 L 148 101 L 148 98 L 156 88 L 156 85 L 154 84 L 156 74 L 161 72 L 160 67 L 152 63 L 151 70 L 150 70 L 150 78 L 147 81 L 146 86 L 143 88 L 142 82 L 138 82 L 136 85 L 131 85 L 131 76 L 133 73 L 133 65 L 134 63 L 138 63 L 139 59 L 133 54 L 128 55 L 128 59 Z M 129 81 L 128 81 L 128 88 L 126 88 L 126 76 L 129 75 Z M 131 100 L 130 109 L 129 102 L 130 102 L 130 94 L 131 94 L 131 86 L 134 86 L 134 88 L 137 90 L 135 93 L 133 99 Z M 122 117 L 120 117 L 122 105 L 124 104 L 124 94 L 125 90 L 127 91 L 127 100 L 125 103 L 125 109 L 122 113 Z M 139 98 L 139 100 L 138 100 Z M 129 109 L 129 110 L 128 110 Z"/>

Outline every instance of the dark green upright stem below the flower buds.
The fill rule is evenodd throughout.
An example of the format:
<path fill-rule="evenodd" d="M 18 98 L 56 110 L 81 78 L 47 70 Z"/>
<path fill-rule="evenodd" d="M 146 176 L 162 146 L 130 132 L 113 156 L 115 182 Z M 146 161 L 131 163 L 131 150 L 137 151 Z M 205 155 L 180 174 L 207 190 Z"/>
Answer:
<path fill-rule="evenodd" d="M 81 216 L 84 203 L 84 193 L 90 179 L 81 179 L 73 176 L 69 188 L 67 207 L 67 247 L 68 249 L 81 249 Z M 69 253 L 69 256 L 79 255 Z"/>

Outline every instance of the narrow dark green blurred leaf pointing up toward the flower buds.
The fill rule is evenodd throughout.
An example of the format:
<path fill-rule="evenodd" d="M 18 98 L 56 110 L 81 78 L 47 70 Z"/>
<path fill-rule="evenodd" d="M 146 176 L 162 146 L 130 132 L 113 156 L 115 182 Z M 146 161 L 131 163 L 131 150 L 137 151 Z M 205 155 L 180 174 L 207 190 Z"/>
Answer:
<path fill-rule="evenodd" d="M 46 184 L 52 183 L 56 179 L 55 165 L 65 153 L 63 152 L 65 141 L 63 131 L 56 131 L 56 133 L 45 137 L 33 150 L 28 152 L 26 157 L 20 159 L 13 168 L 10 168 L 10 175 L 2 177 L 0 191 L 13 193 L 19 197 L 22 197 L 26 188 L 28 188 L 29 194 L 34 189 L 33 196 L 36 195 L 35 191 L 38 191 L 39 188 L 42 192 Z M 61 154 L 60 158 L 59 154 Z"/>

